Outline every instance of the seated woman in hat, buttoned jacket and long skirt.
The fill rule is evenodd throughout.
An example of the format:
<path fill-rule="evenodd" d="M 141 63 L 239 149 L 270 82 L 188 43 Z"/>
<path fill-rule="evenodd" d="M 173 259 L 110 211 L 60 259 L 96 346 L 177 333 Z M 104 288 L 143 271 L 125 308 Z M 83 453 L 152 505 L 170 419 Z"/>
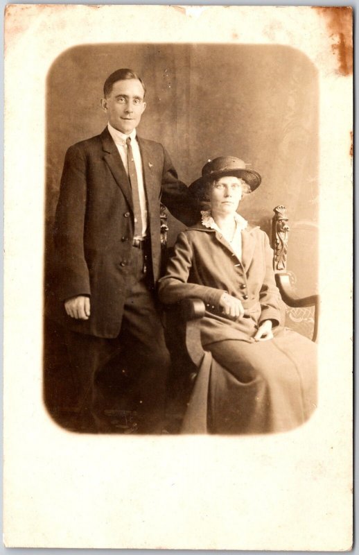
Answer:
<path fill-rule="evenodd" d="M 212 433 L 283 432 L 305 422 L 317 402 L 315 345 L 281 326 L 268 237 L 236 213 L 243 194 L 260 183 L 259 173 L 236 157 L 205 164 L 190 190 L 210 210 L 179 234 L 159 282 L 166 304 L 200 298 L 206 305 L 201 337 L 211 362 L 200 374 L 209 372 L 202 401 Z M 203 384 L 200 374 L 196 386 Z M 187 427 L 203 431 L 194 428 Z"/>

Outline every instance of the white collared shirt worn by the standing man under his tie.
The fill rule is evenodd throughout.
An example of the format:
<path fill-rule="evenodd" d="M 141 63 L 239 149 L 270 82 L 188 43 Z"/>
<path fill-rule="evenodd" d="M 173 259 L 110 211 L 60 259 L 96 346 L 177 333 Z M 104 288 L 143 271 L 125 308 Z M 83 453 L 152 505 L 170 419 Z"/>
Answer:
<path fill-rule="evenodd" d="M 107 124 L 107 129 L 110 132 L 112 139 L 114 139 L 114 144 L 116 144 L 119 155 L 125 167 L 125 171 L 128 174 L 128 163 L 127 163 L 127 144 L 126 139 L 131 138 L 131 148 L 134 159 L 134 166 L 136 167 L 137 173 L 137 183 L 139 185 L 139 205 L 141 208 L 141 220 L 142 220 L 142 235 L 141 237 L 134 237 L 134 239 L 142 239 L 146 237 L 147 233 L 147 200 L 145 192 L 145 184 L 143 182 L 143 172 L 142 172 L 142 159 L 141 153 L 139 151 L 139 143 L 136 139 L 136 129 L 130 133 L 130 135 L 125 135 L 121 131 L 112 127 L 110 123 Z"/>

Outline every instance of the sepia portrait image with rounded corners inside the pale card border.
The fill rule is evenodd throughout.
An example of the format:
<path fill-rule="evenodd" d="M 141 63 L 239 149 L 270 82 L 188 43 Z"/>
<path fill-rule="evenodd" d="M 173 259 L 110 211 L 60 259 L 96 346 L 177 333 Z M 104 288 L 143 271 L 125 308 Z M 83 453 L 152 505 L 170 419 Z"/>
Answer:
<path fill-rule="evenodd" d="M 51 415 L 125 434 L 306 422 L 319 309 L 313 63 L 290 46 L 85 45 L 46 84 Z"/>

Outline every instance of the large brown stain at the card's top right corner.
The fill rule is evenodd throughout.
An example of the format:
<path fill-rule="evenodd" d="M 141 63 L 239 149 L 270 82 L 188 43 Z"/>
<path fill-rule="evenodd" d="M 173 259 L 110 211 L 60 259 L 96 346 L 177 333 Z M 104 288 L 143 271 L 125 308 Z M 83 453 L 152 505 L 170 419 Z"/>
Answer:
<path fill-rule="evenodd" d="M 353 73 L 353 8 L 350 6 L 312 6 L 319 17 L 326 19 L 331 48 L 338 58 L 340 75 Z"/>

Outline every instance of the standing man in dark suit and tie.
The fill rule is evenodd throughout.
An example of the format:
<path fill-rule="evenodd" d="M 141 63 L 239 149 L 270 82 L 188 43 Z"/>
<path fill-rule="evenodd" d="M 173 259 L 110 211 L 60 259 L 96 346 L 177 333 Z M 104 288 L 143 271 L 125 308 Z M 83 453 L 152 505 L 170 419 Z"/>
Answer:
<path fill-rule="evenodd" d="M 55 216 L 60 298 L 82 409 L 102 427 L 101 368 L 125 348 L 138 376 L 139 432 L 161 431 L 169 355 L 155 302 L 160 202 L 190 225 L 198 216 L 164 147 L 137 136 L 146 89 L 134 71 L 104 85 L 103 133 L 67 151 Z"/>

